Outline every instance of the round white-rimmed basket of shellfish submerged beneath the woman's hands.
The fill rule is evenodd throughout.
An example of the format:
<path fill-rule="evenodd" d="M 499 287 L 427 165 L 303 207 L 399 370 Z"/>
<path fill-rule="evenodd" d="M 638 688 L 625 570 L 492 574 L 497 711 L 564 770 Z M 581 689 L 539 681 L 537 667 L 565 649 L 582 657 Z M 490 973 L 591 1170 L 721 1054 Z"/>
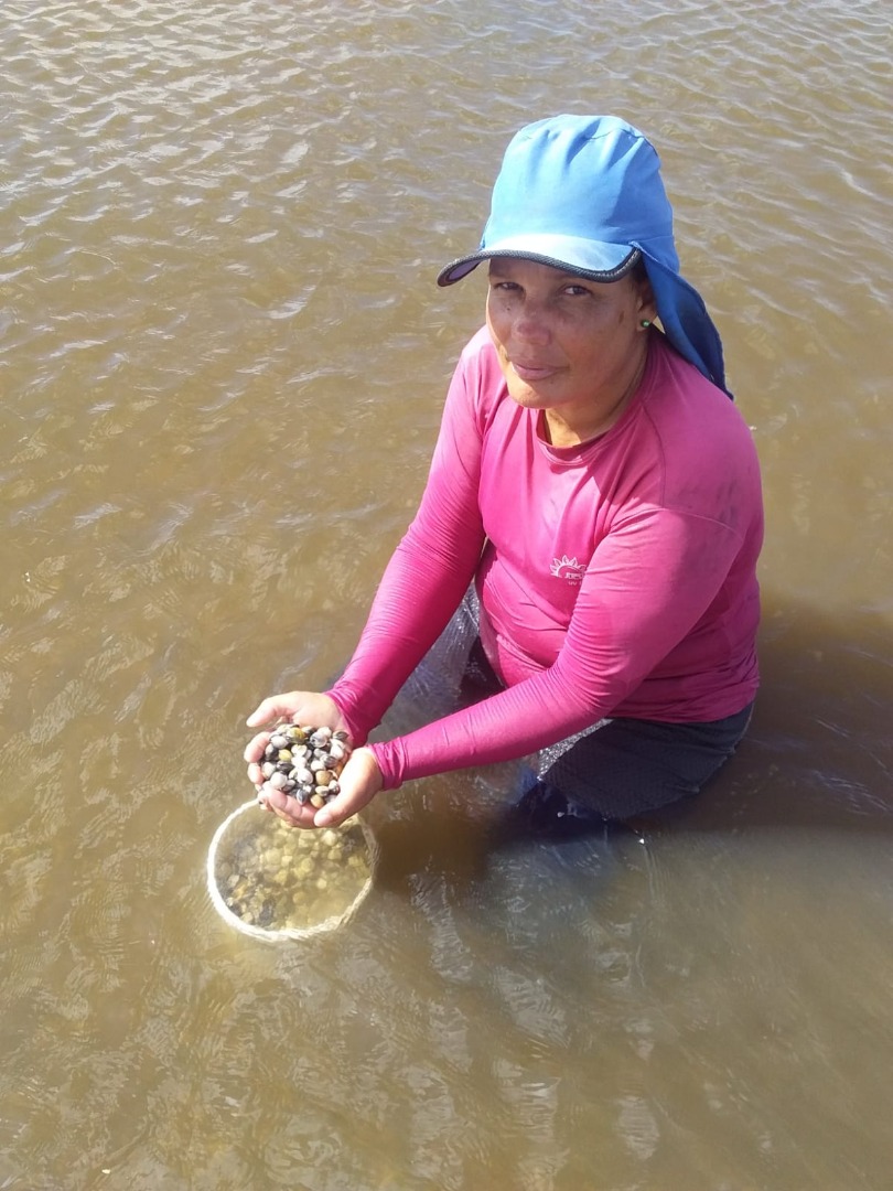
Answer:
<path fill-rule="evenodd" d="M 310 939 L 348 922 L 371 887 L 374 850 L 357 818 L 289 828 L 255 799 L 214 833 L 207 888 L 218 913 L 255 939 Z"/>

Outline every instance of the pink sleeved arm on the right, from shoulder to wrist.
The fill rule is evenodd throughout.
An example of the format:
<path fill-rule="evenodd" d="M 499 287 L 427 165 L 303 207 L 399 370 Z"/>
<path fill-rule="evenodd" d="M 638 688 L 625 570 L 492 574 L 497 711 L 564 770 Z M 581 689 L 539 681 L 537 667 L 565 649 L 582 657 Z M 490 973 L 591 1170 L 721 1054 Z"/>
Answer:
<path fill-rule="evenodd" d="M 739 548 L 717 522 L 656 509 L 631 517 L 595 550 L 555 663 L 371 746 L 383 788 L 525 756 L 610 716 L 694 629 Z"/>

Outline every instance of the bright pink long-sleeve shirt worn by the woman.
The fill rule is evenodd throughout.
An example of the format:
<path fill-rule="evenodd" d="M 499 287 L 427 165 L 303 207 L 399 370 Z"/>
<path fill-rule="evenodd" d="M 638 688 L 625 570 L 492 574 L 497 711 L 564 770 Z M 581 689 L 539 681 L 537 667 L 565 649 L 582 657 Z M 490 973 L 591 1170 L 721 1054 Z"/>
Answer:
<path fill-rule="evenodd" d="M 329 692 L 367 738 L 474 579 L 507 690 L 373 746 L 385 788 L 524 756 L 607 716 L 722 719 L 757 687 L 756 450 L 658 331 L 620 419 L 552 447 L 486 329 L 462 353 L 429 481 Z"/>

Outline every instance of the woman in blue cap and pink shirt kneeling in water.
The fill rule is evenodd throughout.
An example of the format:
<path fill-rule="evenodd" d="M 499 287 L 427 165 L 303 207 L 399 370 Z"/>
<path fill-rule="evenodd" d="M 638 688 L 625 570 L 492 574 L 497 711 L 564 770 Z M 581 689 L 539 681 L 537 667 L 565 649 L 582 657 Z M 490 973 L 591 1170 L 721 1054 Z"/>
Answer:
<path fill-rule="evenodd" d="M 758 464 L 719 336 L 679 273 L 657 154 L 613 117 L 523 129 L 480 247 L 438 282 L 483 261 L 487 324 L 356 653 L 326 693 L 264 699 L 248 723 L 295 717 L 362 746 L 454 615 L 477 617 L 485 697 L 356 748 L 318 811 L 262 791 L 293 825 L 543 749 L 537 815 L 623 818 L 697 792 L 745 730 Z M 245 750 L 258 787 L 268 736 Z"/>

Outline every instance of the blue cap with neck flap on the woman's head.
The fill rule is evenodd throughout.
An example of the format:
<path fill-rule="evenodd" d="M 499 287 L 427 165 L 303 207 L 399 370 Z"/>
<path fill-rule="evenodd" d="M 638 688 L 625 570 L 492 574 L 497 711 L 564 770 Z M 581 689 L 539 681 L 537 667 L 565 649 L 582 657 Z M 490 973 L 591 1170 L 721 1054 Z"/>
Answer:
<path fill-rule="evenodd" d="M 729 392 L 719 332 L 679 272 L 660 157 L 632 125 L 614 116 L 555 116 L 517 132 L 477 250 L 448 264 L 437 283 L 450 286 L 492 256 L 539 261 L 593 281 L 616 281 L 641 260 L 667 338 Z"/>

